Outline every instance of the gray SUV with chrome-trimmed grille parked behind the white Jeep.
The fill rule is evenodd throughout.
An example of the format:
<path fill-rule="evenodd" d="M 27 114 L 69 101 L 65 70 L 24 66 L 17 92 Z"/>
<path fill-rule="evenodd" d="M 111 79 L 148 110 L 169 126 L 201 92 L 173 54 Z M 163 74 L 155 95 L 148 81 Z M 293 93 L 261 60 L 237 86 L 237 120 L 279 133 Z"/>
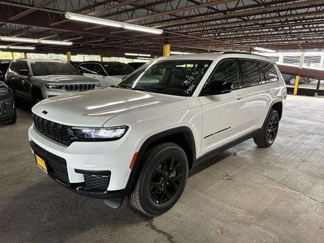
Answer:
<path fill-rule="evenodd" d="M 100 88 L 100 82 L 82 75 L 60 60 L 16 59 L 11 62 L 5 83 L 19 98 L 34 104 L 53 96 Z"/>

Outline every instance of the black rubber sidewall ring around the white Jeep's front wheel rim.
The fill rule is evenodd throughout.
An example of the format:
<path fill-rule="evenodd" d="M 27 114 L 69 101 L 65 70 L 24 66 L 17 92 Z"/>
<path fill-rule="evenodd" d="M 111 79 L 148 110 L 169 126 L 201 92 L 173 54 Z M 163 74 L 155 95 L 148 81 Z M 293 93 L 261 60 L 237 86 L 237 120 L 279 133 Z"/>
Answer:
<path fill-rule="evenodd" d="M 148 156 L 150 157 L 150 156 Z M 153 157 L 146 159 L 150 159 L 148 161 L 148 167 L 145 170 L 143 175 L 143 181 L 141 183 L 141 201 L 143 204 L 143 209 L 145 211 L 149 211 L 150 214 L 161 214 L 169 209 L 171 209 L 175 203 L 180 198 L 188 177 L 188 159 L 185 152 L 179 147 L 168 147 L 166 149 L 158 151 Z M 151 198 L 149 187 L 150 181 L 155 168 L 167 157 L 176 157 L 178 161 L 182 161 L 182 180 L 178 187 L 177 192 L 172 196 L 172 198 L 164 204 L 156 204 Z"/>

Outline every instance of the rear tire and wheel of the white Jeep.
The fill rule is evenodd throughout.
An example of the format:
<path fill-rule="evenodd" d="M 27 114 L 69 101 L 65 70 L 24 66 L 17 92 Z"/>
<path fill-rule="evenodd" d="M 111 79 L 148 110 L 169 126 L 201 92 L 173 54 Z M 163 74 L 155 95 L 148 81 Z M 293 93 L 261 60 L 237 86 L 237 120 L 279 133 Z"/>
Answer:
<path fill-rule="evenodd" d="M 271 146 L 277 136 L 278 127 L 278 112 L 274 109 L 271 109 L 262 133 L 253 138 L 255 144 L 263 148 Z"/>

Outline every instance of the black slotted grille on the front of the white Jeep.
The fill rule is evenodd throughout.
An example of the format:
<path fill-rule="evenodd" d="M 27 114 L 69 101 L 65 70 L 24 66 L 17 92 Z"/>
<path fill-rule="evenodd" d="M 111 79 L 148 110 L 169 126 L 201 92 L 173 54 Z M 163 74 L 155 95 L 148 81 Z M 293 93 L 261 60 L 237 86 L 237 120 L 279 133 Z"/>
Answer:
<path fill-rule="evenodd" d="M 70 145 L 69 126 L 54 123 L 34 113 L 32 113 L 32 119 L 35 128 L 46 137 L 54 139 L 59 143 Z"/>

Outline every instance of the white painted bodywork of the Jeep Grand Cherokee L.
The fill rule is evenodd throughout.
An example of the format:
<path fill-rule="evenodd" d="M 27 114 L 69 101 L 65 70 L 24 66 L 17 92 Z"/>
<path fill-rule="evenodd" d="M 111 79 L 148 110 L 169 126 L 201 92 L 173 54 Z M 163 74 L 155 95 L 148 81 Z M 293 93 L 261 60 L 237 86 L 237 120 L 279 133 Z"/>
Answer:
<path fill-rule="evenodd" d="M 107 88 L 53 97 L 32 108 L 32 112 L 38 116 L 68 126 L 128 126 L 126 135 L 119 140 L 73 142 L 70 146 L 63 146 L 37 132 L 33 126 L 28 131 L 29 140 L 65 158 L 71 182 L 84 180 L 81 174 L 74 173 L 74 169 L 111 171 L 108 190 L 125 188 L 134 153 L 139 151 L 145 140 L 159 132 L 183 126 L 189 128 L 195 140 L 198 158 L 261 128 L 274 100 L 285 103 L 286 86 L 281 75 L 277 82 L 233 90 L 223 95 L 199 96 L 213 69 L 224 58 L 251 58 L 251 55 L 196 54 L 159 58 L 214 61 L 192 97 Z M 261 56 L 253 58 L 269 61 Z M 266 92 L 266 89 L 270 91 Z M 244 98 L 237 100 L 237 95 Z M 47 110 L 48 114 L 44 115 L 43 110 Z M 228 127 L 230 129 L 204 139 Z"/>

